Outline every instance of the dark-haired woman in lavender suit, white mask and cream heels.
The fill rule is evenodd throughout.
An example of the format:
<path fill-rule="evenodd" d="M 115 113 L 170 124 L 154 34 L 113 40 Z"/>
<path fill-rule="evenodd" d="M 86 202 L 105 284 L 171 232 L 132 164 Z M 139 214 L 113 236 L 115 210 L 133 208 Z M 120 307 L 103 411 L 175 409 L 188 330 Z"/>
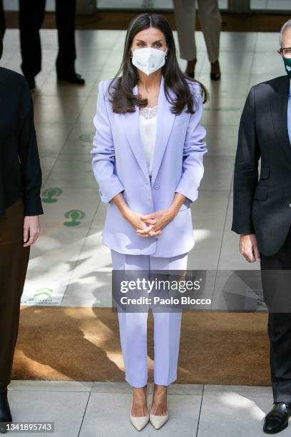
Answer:
<path fill-rule="evenodd" d="M 198 198 L 207 151 L 200 125 L 205 87 L 180 70 L 163 16 L 131 22 L 121 68 L 99 83 L 92 166 L 108 206 L 103 243 L 114 270 L 185 270 L 194 246 L 190 204 Z M 120 76 L 121 75 L 121 76 Z M 167 387 L 177 378 L 181 312 L 154 312 L 154 391 L 147 406 L 148 312 L 118 311 L 131 423 L 160 428 Z"/>

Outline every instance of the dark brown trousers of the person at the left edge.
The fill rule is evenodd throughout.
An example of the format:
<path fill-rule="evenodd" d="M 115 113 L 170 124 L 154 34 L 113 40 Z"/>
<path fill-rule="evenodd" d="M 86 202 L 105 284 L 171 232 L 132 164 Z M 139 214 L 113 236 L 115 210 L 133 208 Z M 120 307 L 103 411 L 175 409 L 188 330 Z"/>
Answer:
<path fill-rule="evenodd" d="M 17 201 L 0 217 L 0 386 L 11 380 L 20 300 L 30 247 L 23 247 L 23 203 Z"/>

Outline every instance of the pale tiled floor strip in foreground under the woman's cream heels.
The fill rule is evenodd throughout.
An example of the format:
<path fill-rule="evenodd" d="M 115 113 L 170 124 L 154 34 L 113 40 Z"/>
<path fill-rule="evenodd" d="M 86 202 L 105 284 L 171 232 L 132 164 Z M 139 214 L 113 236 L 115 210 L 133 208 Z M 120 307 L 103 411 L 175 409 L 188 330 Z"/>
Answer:
<path fill-rule="evenodd" d="M 148 396 L 150 406 L 152 386 Z M 170 418 L 159 436 L 257 437 L 272 406 L 269 387 L 194 386 L 169 388 Z M 12 381 L 9 401 L 14 421 L 54 422 L 55 437 L 136 436 L 128 416 L 127 383 Z M 142 436 L 155 436 L 148 424 Z M 26 436 L 33 436 L 26 433 Z M 38 433 L 44 436 L 44 433 Z M 280 435 L 290 436 L 290 429 Z"/>

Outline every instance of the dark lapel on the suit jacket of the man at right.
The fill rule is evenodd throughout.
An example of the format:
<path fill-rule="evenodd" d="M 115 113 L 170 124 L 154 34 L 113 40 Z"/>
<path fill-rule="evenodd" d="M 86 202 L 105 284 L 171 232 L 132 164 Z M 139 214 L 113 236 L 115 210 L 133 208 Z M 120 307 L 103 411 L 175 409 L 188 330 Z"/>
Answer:
<path fill-rule="evenodd" d="M 290 79 L 286 76 L 279 82 L 271 95 L 272 120 L 279 144 L 291 161 L 291 144 L 288 136 L 287 109 L 290 94 Z M 291 116 L 291 114 L 289 114 Z"/>

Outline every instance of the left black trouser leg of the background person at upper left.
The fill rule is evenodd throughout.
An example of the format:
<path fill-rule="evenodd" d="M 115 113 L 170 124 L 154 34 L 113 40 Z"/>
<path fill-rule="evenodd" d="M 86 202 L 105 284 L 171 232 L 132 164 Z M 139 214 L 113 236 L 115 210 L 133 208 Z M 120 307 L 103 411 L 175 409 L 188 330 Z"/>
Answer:
<path fill-rule="evenodd" d="M 41 39 L 39 29 L 44 21 L 46 0 L 19 0 L 19 29 L 24 76 L 41 71 Z"/>

